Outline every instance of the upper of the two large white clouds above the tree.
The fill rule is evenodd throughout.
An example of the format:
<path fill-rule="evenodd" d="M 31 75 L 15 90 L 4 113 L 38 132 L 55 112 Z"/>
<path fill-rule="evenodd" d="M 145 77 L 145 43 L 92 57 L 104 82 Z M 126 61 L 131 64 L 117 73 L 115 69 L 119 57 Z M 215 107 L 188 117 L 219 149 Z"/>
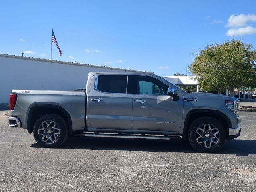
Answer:
<path fill-rule="evenodd" d="M 228 24 L 226 25 L 226 27 L 242 27 L 250 21 L 256 22 L 255 14 L 231 15 L 228 19 Z"/>

